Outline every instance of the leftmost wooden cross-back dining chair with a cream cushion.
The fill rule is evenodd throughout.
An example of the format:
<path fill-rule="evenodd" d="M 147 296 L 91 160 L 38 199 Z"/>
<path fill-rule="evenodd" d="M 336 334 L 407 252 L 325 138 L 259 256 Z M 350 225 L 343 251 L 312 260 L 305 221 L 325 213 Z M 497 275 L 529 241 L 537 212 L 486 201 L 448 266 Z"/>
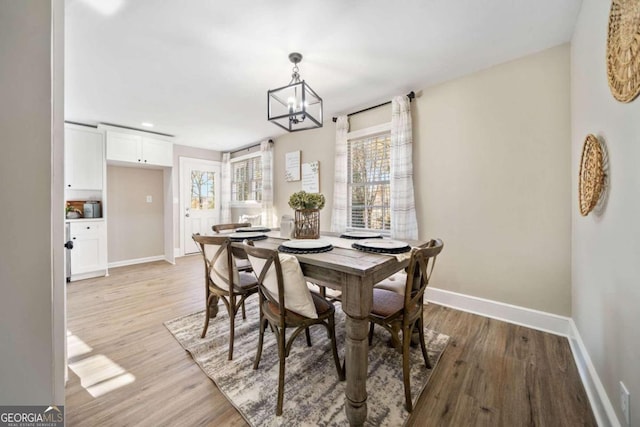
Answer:
<path fill-rule="evenodd" d="M 253 273 L 238 271 L 229 237 L 199 234 L 194 234 L 192 237 L 204 258 L 207 303 L 204 329 L 200 338 L 204 338 L 207 334 L 211 314 L 210 305 L 216 299 L 222 299 L 229 313 L 229 360 L 232 360 L 236 314 L 242 307 L 242 318 L 247 318 L 244 301 L 249 296 L 258 293 L 258 282 Z"/>

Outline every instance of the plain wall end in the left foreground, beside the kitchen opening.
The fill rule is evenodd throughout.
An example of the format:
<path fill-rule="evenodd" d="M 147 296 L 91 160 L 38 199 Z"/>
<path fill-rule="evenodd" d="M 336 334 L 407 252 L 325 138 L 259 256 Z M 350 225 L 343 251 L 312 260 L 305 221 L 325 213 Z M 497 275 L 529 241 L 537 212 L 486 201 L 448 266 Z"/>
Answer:
<path fill-rule="evenodd" d="M 52 173 L 63 161 L 55 155 L 62 148 L 61 51 L 52 85 L 52 43 L 59 47 L 62 34 L 61 22 L 52 31 L 52 15 L 60 18 L 61 7 L 59 1 L 0 1 L 0 405 L 64 399 L 62 367 L 55 372 L 53 363 L 63 359 L 63 349 L 52 336 L 52 324 L 57 338 L 64 332 L 64 311 L 52 304 L 64 289 L 62 258 L 52 247 L 52 240 L 56 248 L 63 244 L 62 183 Z M 60 182 L 58 191 L 52 181 Z M 59 222 L 52 226 L 52 219 Z"/>

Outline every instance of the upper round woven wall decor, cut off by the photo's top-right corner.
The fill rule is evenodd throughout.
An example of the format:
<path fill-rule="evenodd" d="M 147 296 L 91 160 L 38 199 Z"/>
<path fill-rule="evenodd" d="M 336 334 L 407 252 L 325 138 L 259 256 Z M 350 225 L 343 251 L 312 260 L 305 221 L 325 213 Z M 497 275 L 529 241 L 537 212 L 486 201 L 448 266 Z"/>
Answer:
<path fill-rule="evenodd" d="M 612 0 L 607 35 L 607 77 L 613 97 L 640 93 L 640 0 Z"/>

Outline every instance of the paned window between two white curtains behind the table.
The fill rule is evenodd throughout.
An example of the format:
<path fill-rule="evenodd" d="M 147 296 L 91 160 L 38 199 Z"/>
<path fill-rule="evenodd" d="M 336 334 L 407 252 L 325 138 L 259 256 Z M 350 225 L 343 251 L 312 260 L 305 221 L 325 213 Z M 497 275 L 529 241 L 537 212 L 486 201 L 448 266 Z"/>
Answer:
<path fill-rule="evenodd" d="M 348 227 L 390 231 L 390 148 L 389 133 L 349 141 Z"/>

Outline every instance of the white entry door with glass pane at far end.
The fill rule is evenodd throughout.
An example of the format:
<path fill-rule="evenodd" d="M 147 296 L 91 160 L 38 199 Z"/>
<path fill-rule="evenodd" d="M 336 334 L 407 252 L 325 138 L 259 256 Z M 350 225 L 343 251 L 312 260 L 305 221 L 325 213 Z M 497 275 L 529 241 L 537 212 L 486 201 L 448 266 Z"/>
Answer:
<path fill-rule="evenodd" d="M 180 158 L 183 253 L 198 252 L 191 235 L 212 234 L 220 221 L 220 163 Z"/>

